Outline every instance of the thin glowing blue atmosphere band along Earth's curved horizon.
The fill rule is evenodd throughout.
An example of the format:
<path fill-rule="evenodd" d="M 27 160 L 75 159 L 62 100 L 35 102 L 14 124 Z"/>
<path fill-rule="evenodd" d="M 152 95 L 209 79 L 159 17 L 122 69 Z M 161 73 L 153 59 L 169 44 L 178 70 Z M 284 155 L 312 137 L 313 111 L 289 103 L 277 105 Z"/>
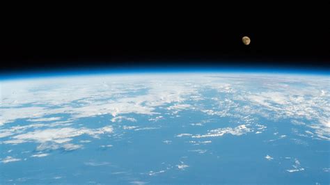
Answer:
<path fill-rule="evenodd" d="M 194 72 L 222 72 L 222 73 L 249 73 L 249 74 L 304 74 L 304 75 L 330 75 L 329 69 L 306 69 L 299 67 L 233 67 L 225 65 L 205 66 L 174 66 L 174 67 L 76 67 L 56 70 L 28 70 L 24 72 L 3 72 L 0 80 L 26 79 L 43 77 L 61 77 L 94 74 L 157 74 L 157 73 L 194 73 Z"/>

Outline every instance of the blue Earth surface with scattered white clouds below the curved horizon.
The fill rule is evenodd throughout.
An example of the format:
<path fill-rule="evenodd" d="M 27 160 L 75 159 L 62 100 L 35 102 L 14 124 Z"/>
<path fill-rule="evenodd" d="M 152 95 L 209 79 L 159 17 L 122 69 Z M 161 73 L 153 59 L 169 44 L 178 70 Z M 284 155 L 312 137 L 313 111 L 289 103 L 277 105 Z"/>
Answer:
<path fill-rule="evenodd" d="M 2 79 L 0 184 L 329 184 L 327 74 Z"/>

